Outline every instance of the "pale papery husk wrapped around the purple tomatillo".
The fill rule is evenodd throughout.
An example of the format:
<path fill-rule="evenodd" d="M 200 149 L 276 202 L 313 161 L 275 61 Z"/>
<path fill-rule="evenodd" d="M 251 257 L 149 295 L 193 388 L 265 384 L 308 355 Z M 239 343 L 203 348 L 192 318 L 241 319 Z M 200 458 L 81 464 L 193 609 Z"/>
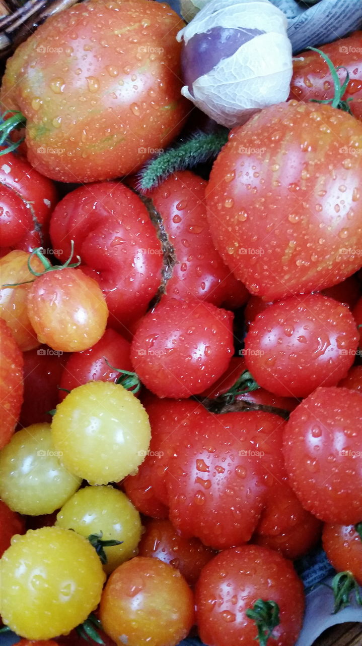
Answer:
<path fill-rule="evenodd" d="M 204 58 L 202 54 L 199 57 L 204 70 L 207 47 L 211 47 L 207 34 L 220 33 L 220 28 L 231 30 L 231 37 L 233 30 L 235 34 L 243 30 L 250 39 L 224 58 L 223 47 L 216 42 L 219 62 L 198 76 L 197 60 L 196 68 L 187 69 L 191 60 L 188 51 L 195 48 L 193 37 L 198 35 L 200 41 L 200 35 L 205 34 Z M 257 35 L 252 35 L 253 30 Z M 256 110 L 288 98 L 292 48 L 287 18 L 269 0 L 211 0 L 178 32 L 177 39 L 184 41 L 185 81 L 192 78 L 192 83 L 182 88 L 182 94 L 218 123 L 232 128 L 244 123 Z"/>

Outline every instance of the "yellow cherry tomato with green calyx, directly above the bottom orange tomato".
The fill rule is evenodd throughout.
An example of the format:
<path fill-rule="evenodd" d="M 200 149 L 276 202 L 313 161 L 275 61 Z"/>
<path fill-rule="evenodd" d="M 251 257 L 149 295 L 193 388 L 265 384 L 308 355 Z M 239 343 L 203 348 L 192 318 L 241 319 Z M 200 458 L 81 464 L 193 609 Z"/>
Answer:
<path fill-rule="evenodd" d="M 86 538 L 102 532 L 103 541 L 121 541 L 120 545 L 104 547 L 107 562 L 103 568 L 108 574 L 137 554 L 142 530 L 140 515 L 131 501 L 112 486 L 86 486 L 77 491 L 62 506 L 55 525 Z"/>

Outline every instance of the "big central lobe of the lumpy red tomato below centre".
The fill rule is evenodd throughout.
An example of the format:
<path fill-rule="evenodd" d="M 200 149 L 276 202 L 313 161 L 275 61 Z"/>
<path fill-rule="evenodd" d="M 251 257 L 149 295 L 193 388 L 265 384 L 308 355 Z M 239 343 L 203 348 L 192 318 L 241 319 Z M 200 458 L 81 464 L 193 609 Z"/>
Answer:
<path fill-rule="evenodd" d="M 285 422 L 263 412 L 203 417 L 173 444 L 169 519 L 182 536 L 225 549 L 251 539 L 268 487 L 283 477 Z"/>

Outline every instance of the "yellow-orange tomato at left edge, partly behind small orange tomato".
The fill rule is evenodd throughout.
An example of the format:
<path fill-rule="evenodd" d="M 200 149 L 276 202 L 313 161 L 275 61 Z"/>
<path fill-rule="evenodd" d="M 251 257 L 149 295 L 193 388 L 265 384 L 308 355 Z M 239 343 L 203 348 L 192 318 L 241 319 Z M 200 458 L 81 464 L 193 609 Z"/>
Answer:
<path fill-rule="evenodd" d="M 28 258 L 30 254 L 26 251 L 10 251 L 0 260 L 0 316 L 6 320 L 23 352 L 39 346 L 26 308 L 26 297 L 31 287 L 28 281 L 34 278 L 28 269 Z M 44 269 L 41 260 L 36 256 L 32 258 L 32 267 L 39 272 Z M 21 284 L 26 282 L 28 284 Z M 3 287 L 4 285 L 16 286 Z"/>

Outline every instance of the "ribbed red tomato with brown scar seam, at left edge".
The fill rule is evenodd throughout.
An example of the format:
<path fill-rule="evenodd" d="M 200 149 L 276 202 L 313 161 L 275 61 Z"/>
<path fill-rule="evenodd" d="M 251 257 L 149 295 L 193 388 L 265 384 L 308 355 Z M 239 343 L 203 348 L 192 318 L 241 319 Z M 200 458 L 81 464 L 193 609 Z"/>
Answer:
<path fill-rule="evenodd" d="M 7 152 L 1 162 L 1 246 L 23 251 L 47 246 L 50 214 L 57 203 L 55 185 L 19 154 Z"/>

